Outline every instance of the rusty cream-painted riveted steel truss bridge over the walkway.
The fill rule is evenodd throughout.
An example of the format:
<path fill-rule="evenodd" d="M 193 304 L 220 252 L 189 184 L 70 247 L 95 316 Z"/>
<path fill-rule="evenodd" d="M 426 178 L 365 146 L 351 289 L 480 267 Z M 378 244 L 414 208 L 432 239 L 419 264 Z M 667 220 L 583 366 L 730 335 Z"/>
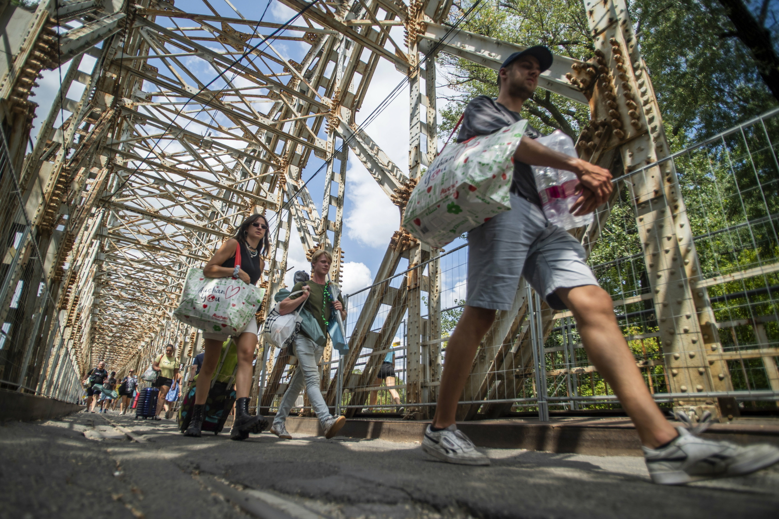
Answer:
<path fill-rule="evenodd" d="M 196 12 L 164 0 L 2 2 L 3 387 L 72 399 L 98 360 L 120 373 L 143 369 L 167 342 L 180 346 L 182 359 L 192 356 L 198 332 L 171 318 L 186 272 L 202 266 L 252 212 L 276 223 L 263 277 L 269 298 L 284 285 L 294 239 L 308 254 L 333 251 L 336 278 L 344 261 L 348 151 L 402 212 L 421 168 L 438 150 L 436 55 L 498 70 L 508 54 L 523 49 L 455 28 L 451 0 L 278 1 L 299 13 L 288 26 L 246 19 L 237 8 L 217 10 L 205 0 Z M 540 86 L 589 107 L 590 124 L 577 150 L 621 178 L 612 202 L 576 237 L 591 251 L 612 209 L 626 204 L 640 237 L 634 256 L 647 281 L 643 293 L 615 306 L 640 303 L 654 311 L 649 335 L 662 351 L 652 365 L 664 366 L 666 391 L 718 413 L 715 397 L 731 395 L 734 386 L 721 323 L 704 288 L 770 275 L 776 264 L 760 262 L 727 280 L 704 279 L 626 2 L 584 0 L 584 8 L 594 57 L 555 57 Z M 403 41 L 393 39 L 393 26 L 404 27 Z M 305 44 L 300 62 L 280 51 L 280 40 Z M 382 59 L 407 76 L 408 174 L 355 120 Z M 33 95 L 41 71 L 67 61 L 54 103 L 38 106 Z M 84 72 L 87 61 L 95 62 L 86 67 L 91 72 Z M 37 110 L 48 116 L 33 141 Z M 321 212 L 305 184 L 309 164 L 323 164 Z M 440 254 L 404 229 L 394 234 L 376 284 L 350 317 L 350 354 L 338 370 L 353 373 L 366 349 L 376 355 L 358 376 L 325 377 L 330 405 L 364 402 L 404 321 L 407 410 L 428 416 L 445 341 Z M 409 270 L 398 278 L 400 286 L 382 282 L 396 274 L 402 258 Z M 386 318 L 377 331 L 380 311 Z M 493 412 L 510 407 L 516 388 L 544 366 L 544 342 L 564 318 L 534 301 L 522 283 L 514 309 L 500 313 L 481 346 L 464 395 L 464 402 L 477 403 L 463 405 L 461 416 L 475 416 L 478 402 L 491 402 Z M 291 368 L 272 347 L 263 351 L 266 362 L 256 368 L 263 387 L 255 396 L 271 407 Z M 756 351 L 750 358 L 765 363 L 767 393 L 779 395 L 776 348 L 766 339 Z M 545 377 L 536 382 L 545 387 Z M 344 400 L 342 389 L 351 397 Z"/>

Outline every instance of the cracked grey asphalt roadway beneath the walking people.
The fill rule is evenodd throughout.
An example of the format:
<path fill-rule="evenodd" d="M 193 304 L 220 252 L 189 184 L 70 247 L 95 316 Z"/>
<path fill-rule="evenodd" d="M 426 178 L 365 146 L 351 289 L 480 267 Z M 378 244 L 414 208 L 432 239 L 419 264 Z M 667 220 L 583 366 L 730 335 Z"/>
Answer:
<path fill-rule="evenodd" d="M 171 420 L 81 412 L 0 426 L 0 517 L 779 517 L 777 465 L 668 487 L 643 458 L 483 451 L 492 466 L 433 461 L 416 443 L 196 439 Z"/>

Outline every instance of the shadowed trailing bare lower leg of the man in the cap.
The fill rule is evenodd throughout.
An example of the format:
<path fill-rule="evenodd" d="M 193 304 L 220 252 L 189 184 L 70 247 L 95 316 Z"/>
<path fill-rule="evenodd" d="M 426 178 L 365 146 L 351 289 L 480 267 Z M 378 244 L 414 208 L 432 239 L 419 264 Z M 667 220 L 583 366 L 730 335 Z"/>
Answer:
<path fill-rule="evenodd" d="M 433 427 L 443 429 L 454 423 L 457 402 L 463 393 L 465 380 L 471 373 L 476 350 L 492 326 L 492 321 L 495 321 L 495 310 L 468 306 L 463 310 L 452 337 L 446 343 L 446 357 Z"/>

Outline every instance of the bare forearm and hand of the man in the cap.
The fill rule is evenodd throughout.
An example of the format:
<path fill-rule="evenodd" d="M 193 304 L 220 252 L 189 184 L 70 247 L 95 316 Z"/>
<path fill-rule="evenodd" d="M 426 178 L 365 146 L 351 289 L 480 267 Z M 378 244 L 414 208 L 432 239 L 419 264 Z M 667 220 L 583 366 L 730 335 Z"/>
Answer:
<path fill-rule="evenodd" d="M 582 189 L 582 195 L 576 200 L 571 212 L 576 215 L 586 215 L 603 205 L 612 195 L 612 174 L 608 170 L 585 160 L 568 156 L 565 153 L 548 149 L 533 139 L 522 139 L 516 146 L 514 160 L 530 164 L 530 166 L 554 167 L 558 170 L 571 171 L 579 178 L 577 189 Z"/>

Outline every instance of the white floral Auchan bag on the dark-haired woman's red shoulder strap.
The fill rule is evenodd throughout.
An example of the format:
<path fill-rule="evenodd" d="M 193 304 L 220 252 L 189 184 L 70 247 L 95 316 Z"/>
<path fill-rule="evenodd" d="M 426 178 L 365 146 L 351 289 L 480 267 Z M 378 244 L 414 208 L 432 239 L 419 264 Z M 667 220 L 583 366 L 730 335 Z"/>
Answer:
<path fill-rule="evenodd" d="M 241 265 L 240 246 L 236 247 L 235 265 Z M 202 268 L 190 268 L 173 315 L 203 331 L 236 335 L 254 319 L 264 296 L 265 289 L 241 279 L 206 278 Z"/>

